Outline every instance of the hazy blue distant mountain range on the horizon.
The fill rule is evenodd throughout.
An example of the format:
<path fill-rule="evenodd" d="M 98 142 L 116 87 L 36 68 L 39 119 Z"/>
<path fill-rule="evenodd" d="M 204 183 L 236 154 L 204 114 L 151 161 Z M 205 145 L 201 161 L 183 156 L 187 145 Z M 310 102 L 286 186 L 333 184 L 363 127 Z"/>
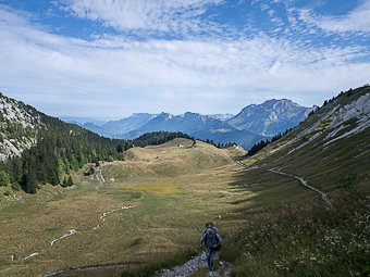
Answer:
<path fill-rule="evenodd" d="M 203 140 L 213 140 L 215 143 L 236 142 L 249 149 L 262 139 L 297 126 L 313 109 L 316 106 L 301 106 L 287 99 L 272 99 L 262 104 L 248 105 L 237 115 L 202 115 L 190 112 L 181 115 L 134 113 L 126 118 L 110 122 L 83 117 L 61 119 L 109 138 L 134 139 L 150 131 L 182 131 Z"/>

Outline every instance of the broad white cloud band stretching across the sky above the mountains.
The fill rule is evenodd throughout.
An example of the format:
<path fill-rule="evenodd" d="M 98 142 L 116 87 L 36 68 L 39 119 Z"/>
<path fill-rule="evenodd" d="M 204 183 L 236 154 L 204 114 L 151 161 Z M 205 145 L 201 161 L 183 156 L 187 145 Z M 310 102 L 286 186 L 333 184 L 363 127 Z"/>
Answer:
<path fill-rule="evenodd" d="M 263 34 L 88 41 L 35 28 L 14 12 L 0 10 L 0 89 L 51 114 L 69 114 L 71 106 L 101 117 L 145 111 L 236 113 L 248 99 L 295 100 L 310 91 L 318 104 L 320 91 L 369 83 L 370 64 L 351 62 L 366 53 L 361 47 L 309 48 Z"/>

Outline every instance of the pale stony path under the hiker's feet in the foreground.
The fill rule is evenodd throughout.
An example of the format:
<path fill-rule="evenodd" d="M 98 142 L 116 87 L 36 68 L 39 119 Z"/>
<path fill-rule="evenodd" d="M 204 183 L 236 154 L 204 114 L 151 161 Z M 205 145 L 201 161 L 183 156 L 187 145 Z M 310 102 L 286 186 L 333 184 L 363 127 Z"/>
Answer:
<path fill-rule="evenodd" d="M 231 273 L 231 265 L 224 262 L 218 262 L 218 259 L 214 262 L 215 264 L 219 263 L 219 268 L 214 272 L 208 272 L 206 276 L 214 276 L 214 277 L 227 277 Z M 201 254 L 192 257 L 183 265 L 178 265 L 173 267 L 172 269 L 162 269 L 155 275 L 155 277 L 187 277 L 192 276 L 196 272 L 201 268 L 207 268 L 207 254 L 202 251 Z"/>

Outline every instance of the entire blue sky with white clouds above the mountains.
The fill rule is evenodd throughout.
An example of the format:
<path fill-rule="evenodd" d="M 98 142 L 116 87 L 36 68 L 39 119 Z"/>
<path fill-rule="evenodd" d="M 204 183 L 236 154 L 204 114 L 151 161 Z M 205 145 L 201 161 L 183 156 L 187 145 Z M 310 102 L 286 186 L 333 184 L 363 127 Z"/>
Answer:
<path fill-rule="evenodd" d="M 0 91 L 53 116 L 321 105 L 370 83 L 370 0 L 0 0 Z"/>

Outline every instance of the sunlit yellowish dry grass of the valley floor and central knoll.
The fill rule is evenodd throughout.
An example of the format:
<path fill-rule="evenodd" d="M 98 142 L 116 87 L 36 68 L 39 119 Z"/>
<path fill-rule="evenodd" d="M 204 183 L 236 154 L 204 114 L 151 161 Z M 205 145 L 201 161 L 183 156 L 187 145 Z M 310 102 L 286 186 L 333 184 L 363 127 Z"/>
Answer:
<path fill-rule="evenodd" d="M 0 276 L 148 262 L 197 248 L 208 219 L 226 232 L 236 221 L 231 203 L 248 197 L 229 187 L 242 171 L 233 158 L 245 152 L 192 143 L 180 139 L 134 148 L 125 154 L 126 161 L 102 167 L 106 182 L 79 174 L 75 178 L 82 180 L 73 189 L 45 186 L 36 196 L 22 193 L 22 202 L 1 199 Z M 120 209 L 123 205 L 133 209 Z M 100 216 L 112 210 L 94 229 L 102 223 Z M 50 247 L 70 229 L 77 232 Z M 34 252 L 40 254 L 24 260 Z"/>

